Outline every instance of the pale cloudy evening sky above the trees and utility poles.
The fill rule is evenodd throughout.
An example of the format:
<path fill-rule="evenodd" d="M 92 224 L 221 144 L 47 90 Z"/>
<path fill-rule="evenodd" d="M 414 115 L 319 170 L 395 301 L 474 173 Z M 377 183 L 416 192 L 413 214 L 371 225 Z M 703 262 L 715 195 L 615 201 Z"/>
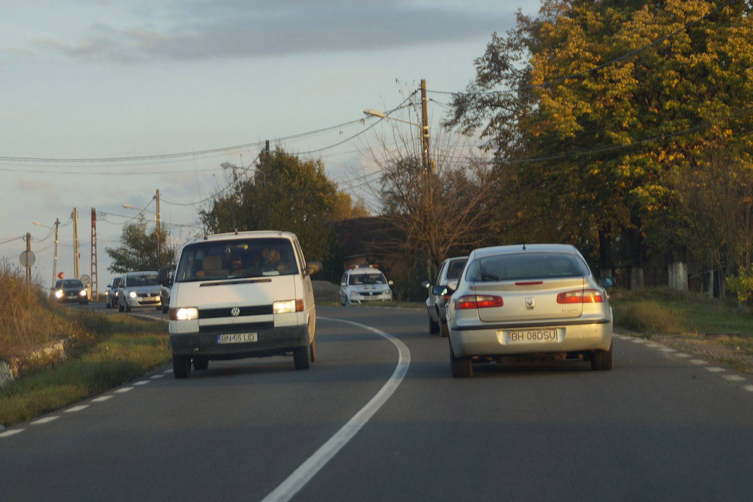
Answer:
<path fill-rule="evenodd" d="M 32 275 L 90 275 L 97 213 L 105 248 L 145 209 L 174 242 L 227 186 L 221 163 L 251 166 L 265 140 L 321 159 L 341 190 L 378 178 L 365 157 L 380 129 L 364 108 L 397 107 L 425 79 L 431 130 L 449 93 L 475 77 L 492 33 L 534 15 L 527 0 L 4 0 L 0 16 L 0 260 L 32 235 Z M 382 124 L 377 124 L 383 127 Z M 412 126 L 395 123 L 390 127 Z M 382 133 L 384 129 L 381 129 Z M 41 225 L 32 222 L 37 221 Z"/>

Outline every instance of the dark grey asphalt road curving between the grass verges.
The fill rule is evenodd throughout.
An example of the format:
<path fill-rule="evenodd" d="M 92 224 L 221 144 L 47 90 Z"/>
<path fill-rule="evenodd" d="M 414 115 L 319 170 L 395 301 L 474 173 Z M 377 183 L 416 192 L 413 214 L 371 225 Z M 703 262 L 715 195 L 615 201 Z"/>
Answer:
<path fill-rule="evenodd" d="M 753 497 L 753 379 L 621 336 L 611 371 L 489 364 L 453 379 L 424 312 L 317 313 L 311 370 L 166 367 L 0 431 L 0 500 Z"/>

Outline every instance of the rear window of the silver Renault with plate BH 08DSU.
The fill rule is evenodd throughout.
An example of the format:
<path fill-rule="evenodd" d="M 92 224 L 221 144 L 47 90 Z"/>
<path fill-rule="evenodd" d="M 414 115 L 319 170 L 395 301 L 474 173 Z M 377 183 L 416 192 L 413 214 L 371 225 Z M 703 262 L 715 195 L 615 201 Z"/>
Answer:
<path fill-rule="evenodd" d="M 575 254 L 520 253 L 474 260 L 466 277 L 468 281 L 483 282 L 586 275 L 590 275 L 588 266 Z"/>

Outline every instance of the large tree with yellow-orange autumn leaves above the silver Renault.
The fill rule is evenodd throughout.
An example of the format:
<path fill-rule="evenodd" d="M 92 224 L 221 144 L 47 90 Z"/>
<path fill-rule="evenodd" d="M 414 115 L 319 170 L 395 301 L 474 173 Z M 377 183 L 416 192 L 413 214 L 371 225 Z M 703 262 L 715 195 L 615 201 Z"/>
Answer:
<path fill-rule="evenodd" d="M 598 247 L 602 268 L 626 240 L 640 272 L 646 242 L 684 245 L 663 225 L 678 207 L 672 172 L 703 166 L 709 148 L 753 147 L 751 5 L 720 4 L 546 0 L 492 37 L 448 123 L 480 128 L 500 183 L 527 192 L 523 218 Z"/>

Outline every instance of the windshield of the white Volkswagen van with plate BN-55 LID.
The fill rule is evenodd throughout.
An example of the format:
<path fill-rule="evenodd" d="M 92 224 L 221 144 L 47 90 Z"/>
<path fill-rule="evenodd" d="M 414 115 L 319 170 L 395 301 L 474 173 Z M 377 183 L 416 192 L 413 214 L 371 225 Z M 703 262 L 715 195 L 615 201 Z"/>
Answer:
<path fill-rule="evenodd" d="M 298 266 L 288 239 L 196 242 L 183 248 L 175 281 L 294 275 Z"/>

